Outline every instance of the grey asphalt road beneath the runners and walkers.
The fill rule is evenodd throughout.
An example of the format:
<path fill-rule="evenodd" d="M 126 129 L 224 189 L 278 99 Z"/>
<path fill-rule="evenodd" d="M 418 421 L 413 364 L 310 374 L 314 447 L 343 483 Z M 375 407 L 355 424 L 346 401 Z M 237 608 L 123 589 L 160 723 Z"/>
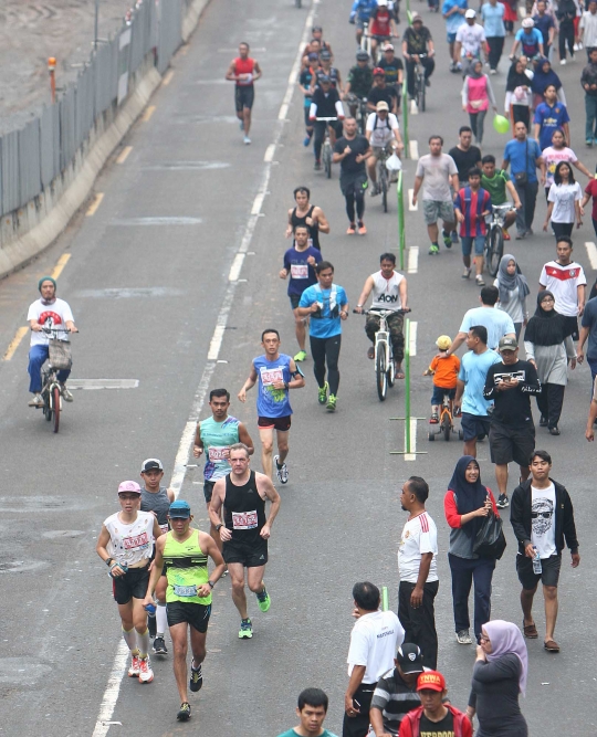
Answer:
<path fill-rule="evenodd" d="M 214 0 L 188 50 L 175 60 L 169 84 L 151 101 L 155 112 L 124 141 L 133 147 L 128 157 L 123 164 L 114 160 L 98 179 L 96 191 L 104 198 L 95 214 L 82 214 L 40 260 L 0 284 L 3 352 L 25 324 L 38 278 L 70 254 L 59 293 L 72 305 L 81 328 L 73 340 L 73 378 L 139 382 L 135 389 L 77 391 L 56 436 L 41 413 L 27 408 L 27 339 L 10 361 L 0 364 L 0 734 L 78 737 L 94 731 L 119 644 L 109 580 L 94 549 L 97 531 L 117 508 L 118 482 L 137 477 L 143 459 L 160 457 L 169 477 L 187 423 L 197 413 L 206 415 L 205 389 L 226 386 L 235 396 L 251 358 L 260 352 L 264 327 L 279 327 L 283 348 L 295 352 L 285 284 L 277 278 L 287 248 L 285 213 L 293 188 L 310 186 L 312 200 L 326 212 L 332 233 L 322 239 L 323 252 L 335 264 L 337 282 L 352 305 L 376 270 L 379 253 L 397 248 L 396 207 L 392 203 L 386 215 L 378 199 L 367 201 L 367 236 L 344 235 L 337 171 L 332 181 L 313 171 L 312 154 L 301 145 L 302 101 L 296 93 L 287 120 L 279 120 L 310 12 L 290 2 L 249 0 L 239 7 Z M 346 74 L 354 52 L 347 7 L 328 0 L 316 12 Z M 458 126 L 467 123 L 460 110 L 460 80 L 448 72 L 441 19 L 430 17 L 429 25 L 438 39 L 439 62 L 428 112 L 411 118 L 411 137 L 421 154 L 431 133 L 455 143 Z M 264 71 L 250 147 L 242 145 L 233 117 L 232 85 L 222 81 L 240 40 L 251 43 Z M 584 125 L 579 67 L 569 64 L 562 75 L 575 118 L 573 140 L 578 143 Z M 493 77 L 501 101 L 504 69 L 502 63 L 502 74 Z M 270 165 L 264 156 L 274 143 Z M 501 158 L 504 143 L 505 137 L 490 130 L 485 150 Z M 594 166 L 594 156 L 582 151 L 582 158 L 589 169 Z M 413 171 L 415 164 L 407 161 L 409 187 Z M 251 218 L 264 185 L 263 204 L 256 210 L 263 217 Z M 536 223 L 544 212 L 541 202 Z M 156 218 L 190 220 L 175 224 Z M 418 273 L 409 275 L 409 287 L 418 324 L 412 410 L 425 418 L 431 389 L 421 373 L 434 352 L 433 343 L 442 333 L 455 335 L 461 315 L 476 304 L 478 288 L 462 283 L 458 250 L 427 256 L 422 213 L 407 212 L 407 234 L 409 246 L 420 246 Z M 584 242 L 593 234 L 584 228 L 575 240 L 575 255 L 591 281 Z M 535 285 L 534 298 L 541 266 L 555 252 L 553 239 L 540 234 L 512 242 L 512 249 Z M 237 257 L 239 251 L 247 252 L 243 261 Z M 243 281 L 231 287 L 233 262 L 242 263 Z M 227 329 L 216 362 L 208 351 L 222 317 Z M 151 685 L 122 683 L 111 717 L 122 726 L 111 726 L 111 737 L 125 730 L 136 737 L 192 734 L 197 728 L 207 737 L 277 735 L 294 725 L 295 699 L 307 685 L 329 694 L 326 726 L 339 733 L 353 624 L 350 589 L 363 579 L 387 585 L 396 607 L 396 552 L 405 522 L 398 493 L 411 474 L 422 475 L 431 487 L 428 507 L 440 530 L 440 668 L 453 703 L 464 707 L 474 654 L 472 647 L 457 645 L 453 635 L 442 514 L 443 494 L 462 446 L 458 441 L 428 443 L 422 420 L 417 450 L 425 454 L 413 462 L 390 455 L 404 446 L 402 423 L 390 421 L 402 415 L 404 386 L 398 383 L 379 403 L 363 327 L 356 315 L 345 324 L 335 415 L 317 406 L 310 360 L 304 365 L 307 386 L 292 396 L 291 476 L 280 489 L 282 509 L 266 570 L 272 608 L 262 614 L 250 597 L 253 640 L 238 640 L 230 585 L 219 583 L 205 686 L 191 698 L 191 722 L 179 725 L 175 719 L 178 696 L 171 657 L 154 657 Z M 556 639 L 562 653 L 546 654 L 541 640 L 528 643 L 530 681 L 522 706 L 531 735 L 544 737 L 556 737 L 572 725 L 578 734 L 597 731 L 590 670 L 596 656 L 596 591 L 589 572 L 596 562 L 595 451 L 584 440 L 589 383 L 586 367 L 572 376 L 559 438 L 537 429 L 537 445 L 554 455 L 554 477 L 572 493 L 583 558 L 577 570 L 565 566 L 561 579 Z M 231 411 L 256 440 L 254 394 L 247 406 L 233 401 Z M 494 488 L 486 443 L 480 446 L 479 460 L 483 480 Z M 255 456 L 253 467 L 259 465 Z M 189 470 L 180 497 L 191 503 L 205 528 L 200 482 L 200 470 Z M 509 547 L 494 576 L 493 615 L 519 623 L 515 545 L 507 525 L 506 535 Z M 535 615 L 541 631 L 541 596 Z"/>

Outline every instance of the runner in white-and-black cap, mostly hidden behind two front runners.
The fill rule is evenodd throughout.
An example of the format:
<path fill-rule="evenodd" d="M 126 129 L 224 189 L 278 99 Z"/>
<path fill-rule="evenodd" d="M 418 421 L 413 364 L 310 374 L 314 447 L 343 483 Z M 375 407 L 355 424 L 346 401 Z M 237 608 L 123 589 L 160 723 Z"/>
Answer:
<path fill-rule="evenodd" d="M 175 493 L 171 488 L 161 486 L 161 480 L 164 478 L 164 465 L 161 461 L 159 459 L 146 459 L 142 464 L 140 475 L 144 482 L 140 503 L 142 512 L 153 512 L 161 531 L 167 533 L 170 529 L 168 525 L 168 509 L 175 499 Z M 168 654 L 166 641 L 164 640 L 164 634 L 168 627 L 168 619 L 166 617 L 167 586 L 166 576 L 161 575 L 156 587 L 156 613 L 147 617 L 149 636 L 154 640 L 151 650 L 156 655 Z"/>

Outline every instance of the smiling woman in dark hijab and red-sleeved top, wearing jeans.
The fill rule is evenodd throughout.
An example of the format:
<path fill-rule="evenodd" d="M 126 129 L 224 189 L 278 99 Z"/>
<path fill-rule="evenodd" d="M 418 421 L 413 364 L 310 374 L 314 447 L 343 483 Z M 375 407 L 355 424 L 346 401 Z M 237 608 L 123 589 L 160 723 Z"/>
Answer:
<path fill-rule="evenodd" d="M 446 519 L 451 527 L 448 561 L 452 573 L 452 604 L 457 641 L 470 645 L 469 594 L 474 580 L 474 635 L 481 638 L 481 625 L 491 617 L 491 579 L 495 560 L 473 552 L 476 533 L 484 518 L 498 514 L 491 489 L 481 483 L 476 459 L 463 455 L 455 465 L 443 498 Z"/>

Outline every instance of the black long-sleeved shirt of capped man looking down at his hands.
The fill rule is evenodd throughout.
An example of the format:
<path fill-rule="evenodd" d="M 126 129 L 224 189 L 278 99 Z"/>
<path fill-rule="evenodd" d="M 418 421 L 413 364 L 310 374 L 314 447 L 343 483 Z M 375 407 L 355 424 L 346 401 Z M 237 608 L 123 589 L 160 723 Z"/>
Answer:
<path fill-rule="evenodd" d="M 498 391 L 495 387 L 506 377 L 519 379 L 519 386 L 515 389 Z M 494 402 L 495 422 L 523 428 L 533 424 L 531 394 L 538 394 L 540 391 L 541 383 L 533 364 L 519 360 L 510 366 L 505 364 L 490 366 L 483 396 Z"/>

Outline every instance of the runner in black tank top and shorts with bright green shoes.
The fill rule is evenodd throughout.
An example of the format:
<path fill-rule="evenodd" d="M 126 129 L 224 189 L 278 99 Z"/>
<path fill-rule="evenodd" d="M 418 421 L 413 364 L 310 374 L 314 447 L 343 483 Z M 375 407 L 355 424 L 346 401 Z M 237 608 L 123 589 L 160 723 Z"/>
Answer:
<path fill-rule="evenodd" d="M 241 615 L 239 638 L 252 638 L 253 627 L 244 594 L 244 568 L 247 585 L 256 594 L 261 611 L 266 612 L 271 602 L 263 571 L 268 562 L 268 539 L 280 509 L 280 495 L 265 474 L 251 471 L 249 449 L 243 443 L 230 446 L 229 462 L 232 471 L 213 486 L 209 517 L 223 543 L 222 555 L 232 583 L 232 601 Z M 265 517 L 268 499 L 271 506 Z"/>

